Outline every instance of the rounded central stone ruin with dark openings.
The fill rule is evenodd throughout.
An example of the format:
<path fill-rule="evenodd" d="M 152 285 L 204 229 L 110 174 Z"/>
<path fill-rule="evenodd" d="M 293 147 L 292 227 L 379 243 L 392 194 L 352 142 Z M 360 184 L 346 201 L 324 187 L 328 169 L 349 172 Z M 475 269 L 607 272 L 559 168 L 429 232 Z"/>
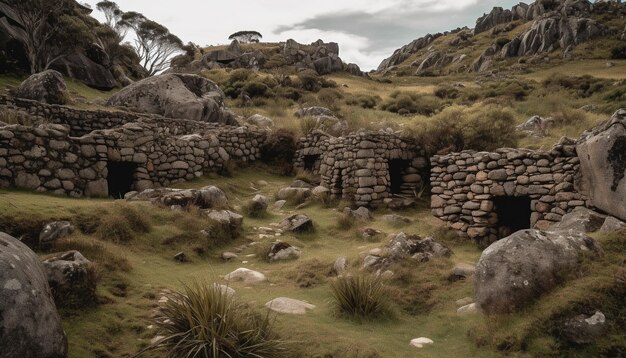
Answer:
<path fill-rule="evenodd" d="M 426 185 L 428 159 L 413 141 L 385 132 L 302 138 L 295 167 L 319 175 L 333 198 L 378 207 L 392 197 L 414 198 Z"/>

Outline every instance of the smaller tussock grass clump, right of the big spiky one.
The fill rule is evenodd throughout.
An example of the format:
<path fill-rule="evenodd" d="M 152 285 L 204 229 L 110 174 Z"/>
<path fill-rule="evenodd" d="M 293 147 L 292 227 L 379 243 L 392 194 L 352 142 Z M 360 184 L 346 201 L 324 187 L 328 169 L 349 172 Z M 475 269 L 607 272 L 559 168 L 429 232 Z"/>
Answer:
<path fill-rule="evenodd" d="M 330 283 L 330 289 L 341 315 L 364 319 L 393 317 L 387 288 L 379 276 L 341 276 Z"/>

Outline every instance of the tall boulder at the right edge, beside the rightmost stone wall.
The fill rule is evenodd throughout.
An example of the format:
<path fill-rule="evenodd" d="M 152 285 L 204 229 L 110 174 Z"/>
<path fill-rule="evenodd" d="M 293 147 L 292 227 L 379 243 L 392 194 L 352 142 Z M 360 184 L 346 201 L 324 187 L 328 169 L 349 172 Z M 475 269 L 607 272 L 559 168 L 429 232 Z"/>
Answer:
<path fill-rule="evenodd" d="M 583 133 L 576 151 L 582 173 L 579 190 L 595 207 L 626 220 L 626 110 Z"/>

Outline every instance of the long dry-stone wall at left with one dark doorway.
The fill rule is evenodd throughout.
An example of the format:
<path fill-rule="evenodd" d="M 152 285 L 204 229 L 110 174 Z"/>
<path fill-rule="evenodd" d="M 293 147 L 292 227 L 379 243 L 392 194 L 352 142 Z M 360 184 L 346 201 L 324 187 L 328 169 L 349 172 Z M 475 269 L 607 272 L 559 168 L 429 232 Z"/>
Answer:
<path fill-rule="evenodd" d="M 119 197 L 254 161 L 266 139 L 251 128 L 0 97 L 6 108 L 44 124 L 0 124 L 0 187 L 74 197 Z"/>

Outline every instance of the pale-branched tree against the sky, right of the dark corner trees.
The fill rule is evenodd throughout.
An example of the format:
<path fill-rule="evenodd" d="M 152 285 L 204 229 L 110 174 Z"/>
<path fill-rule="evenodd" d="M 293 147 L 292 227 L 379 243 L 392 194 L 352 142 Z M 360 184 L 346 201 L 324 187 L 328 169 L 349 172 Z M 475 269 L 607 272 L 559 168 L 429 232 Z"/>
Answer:
<path fill-rule="evenodd" d="M 135 32 L 135 52 L 149 76 L 165 70 L 174 55 L 181 51 L 183 42 L 163 25 L 147 19 L 140 13 L 122 15 L 121 26 Z"/>

